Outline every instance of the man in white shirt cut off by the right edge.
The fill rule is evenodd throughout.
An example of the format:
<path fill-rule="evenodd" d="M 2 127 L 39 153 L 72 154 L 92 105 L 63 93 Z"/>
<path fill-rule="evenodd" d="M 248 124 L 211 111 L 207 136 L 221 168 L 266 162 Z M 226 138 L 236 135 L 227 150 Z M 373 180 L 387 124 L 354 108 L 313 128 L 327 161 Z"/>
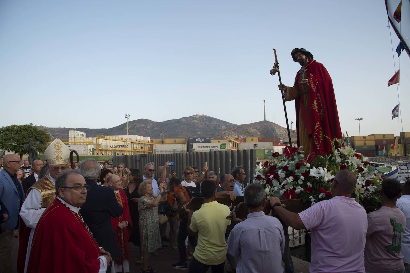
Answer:
<path fill-rule="evenodd" d="M 406 217 L 406 228 L 401 242 L 401 254 L 404 256 L 403 262 L 405 273 L 410 273 L 410 181 L 405 182 L 401 197 L 397 199 L 396 206 L 404 213 Z"/>

